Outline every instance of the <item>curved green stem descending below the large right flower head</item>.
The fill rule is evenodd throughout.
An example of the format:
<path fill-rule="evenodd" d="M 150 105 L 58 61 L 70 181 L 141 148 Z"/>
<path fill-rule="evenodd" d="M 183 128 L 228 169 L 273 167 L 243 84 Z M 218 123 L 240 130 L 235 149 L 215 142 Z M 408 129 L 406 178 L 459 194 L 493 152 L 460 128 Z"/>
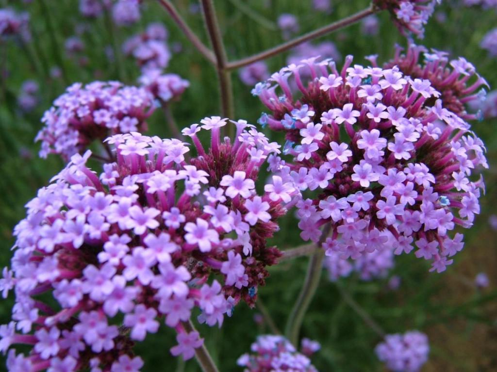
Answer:
<path fill-rule="evenodd" d="M 318 248 L 321 247 L 325 239 L 331 230 L 331 224 L 325 225 L 321 238 L 318 242 Z M 300 290 L 299 297 L 295 302 L 292 312 L 288 317 L 285 335 L 288 340 L 295 346 L 299 340 L 300 328 L 304 320 L 304 315 L 306 314 L 309 305 L 316 293 L 316 289 L 319 285 L 319 280 L 321 278 L 321 271 L 323 270 L 323 258 L 325 257 L 325 251 L 323 249 L 317 249 L 309 260 L 309 265 L 307 267 L 307 274 L 304 281 L 304 285 Z"/>

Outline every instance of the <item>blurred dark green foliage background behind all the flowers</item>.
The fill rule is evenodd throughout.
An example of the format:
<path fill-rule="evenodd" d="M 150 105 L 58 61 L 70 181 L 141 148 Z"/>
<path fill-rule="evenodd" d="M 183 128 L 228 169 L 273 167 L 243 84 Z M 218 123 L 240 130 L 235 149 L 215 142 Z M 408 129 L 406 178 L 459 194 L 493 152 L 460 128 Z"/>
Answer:
<path fill-rule="evenodd" d="M 198 3 L 192 0 L 173 1 L 187 23 L 207 44 Z M 365 0 L 333 0 L 331 13 L 316 12 L 310 0 L 217 0 L 218 17 L 230 60 L 254 54 L 282 41 L 276 20 L 281 13 L 297 16 L 300 32 L 311 31 L 340 19 L 368 5 Z M 188 44 L 154 0 L 142 6 L 139 23 L 129 27 L 115 27 L 109 17 L 86 19 L 78 12 L 78 0 L 0 1 L 30 14 L 32 33 L 30 43 L 16 40 L 0 42 L 1 78 L 0 102 L 0 264 L 7 265 L 13 244 L 12 229 L 24 217 L 24 204 L 39 187 L 47 185 L 63 164 L 56 156 L 48 160 L 38 158 L 39 145 L 33 139 L 41 128 L 40 118 L 52 101 L 73 82 L 122 80 L 136 83 L 140 74 L 133 60 L 119 52 L 123 41 L 143 31 L 150 22 L 161 22 L 169 32 L 168 44 L 175 51 L 167 72 L 180 74 L 191 86 L 172 111 L 179 126 L 198 122 L 204 116 L 220 115 L 216 74 L 212 66 Z M 379 55 L 379 62 L 393 57 L 394 45 L 406 45 L 389 21 L 389 14 L 378 14 L 380 29 L 377 35 L 364 35 L 361 24 L 352 25 L 317 40 L 332 41 L 342 56 L 352 54 L 355 62 L 363 57 Z M 490 58 L 479 46 L 483 36 L 497 24 L 494 10 L 467 8 L 459 1 L 443 1 L 431 18 L 425 39 L 417 41 L 428 48 L 450 52 L 452 57 L 463 56 L 474 63 L 492 87 L 497 86 L 497 60 Z M 84 42 L 80 57 L 68 56 L 64 41 L 79 35 Z M 108 58 L 106 50 L 118 52 Z M 286 65 L 288 53 L 267 60 L 269 70 Z M 82 58 L 84 59 L 82 60 Z M 83 63 L 82 63 L 83 62 Z M 341 62 L 337 61 L 340 66 Z M 61 78 L 50 78 L 50 68 L 59 66 Z M 119 68 L 118 68 L 119 67 Z M 257 98 L 250 94 L 234 71 L 236 118 L 255 123 L 263 111 Z M 19 110 L 16 98 L 22 82 L 34 79 L 40 84 L 40 103 L 29 114 Z M 318 340 L 322 350 L 313 357 L 320 371 L 353 372 L 382 371 L 374 355 L 379 337 L 350 309 L 341 291 L 346 291 L 374 318 L 387 333 L 419 329 L 430 339 L 430 360 L 423 371 L 497 371 L 497 243 L 496 233 L 488 223 L 496 213 L 497 132 L 495 120 L 474 124 L 474 130 L 486 142 L 491 168 L 484 173 L 487 195 L 481 199 L 482 214 L 473 229 L 466 231 L 466 246 L 455 263 L 442 274 L 428 273 L 428 265 L 413 255 L 396 257 L 396 266 L 388 277 L 361 282 L 356 277 L 342 279 L 338 284 L 328 281 L 324 273 L 317 295 L 306 316 L 302 336 Z M 149 120 L 149 133 L 167 137 L 165 118 L 160 110 Z M 269 136 L 271 133 L 266 130 Z M 282 222 L 281 231 L 273 244 L 281 249 L 301 245 L 295 220 L 289 216 Z M 270 269 L 267 285 L 258 295 L 272 314 L 279 329 L 284 328 L 287 315 L 302 285 L 306 258 L 285 261 Z M 479 272 L 489 275 L 491 286 L 483 291 L 473 284 Z M 387 289 L 388 279 L 399 275 L 402 279 L 397 291 Z M 0 303 L 0 323 L 10 317 L 10 299 Z M 249 350 L 257 334 L 269 333 L 264 322 L 254 321 L 257 309 L 241 304 L 233 317 L 227 318 L 222 329 L 200 326 L 206 345 L 220 371 L 237 371 L 236 359 Z M 173 358 L 169 348 L 175 343 L 167 327 L 149 335 L 136 351 L 145 360 L 143 371 L 199 371 L 194 360 L 186 363 Z M 0 370 L 4 368 L 3 363 Z"/>

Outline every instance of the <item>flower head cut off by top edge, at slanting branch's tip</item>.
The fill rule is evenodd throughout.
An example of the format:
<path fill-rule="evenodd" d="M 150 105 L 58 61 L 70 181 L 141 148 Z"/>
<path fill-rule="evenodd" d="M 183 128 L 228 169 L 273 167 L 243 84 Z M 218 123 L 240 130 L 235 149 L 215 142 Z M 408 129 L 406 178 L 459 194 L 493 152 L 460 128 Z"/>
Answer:
<path fill-rule="evenodd" d="M 373 0 L 379 9 L 386 9 L 404 36 L 414 34 L 422 39 L 424 26 L 433 14 L 435 5 L 441 0 Z"/>

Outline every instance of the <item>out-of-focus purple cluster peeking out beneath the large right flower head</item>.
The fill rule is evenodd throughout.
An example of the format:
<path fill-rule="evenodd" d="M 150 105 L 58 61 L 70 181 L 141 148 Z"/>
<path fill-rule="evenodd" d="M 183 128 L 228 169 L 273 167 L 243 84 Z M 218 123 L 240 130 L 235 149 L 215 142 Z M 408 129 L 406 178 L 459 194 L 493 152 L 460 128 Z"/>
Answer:
<path fill-rule="evenodd" d="M 354 261 L 343 258 L 339 252 L 328 251 L 324 266 L 332 282 L 341 277 L 349 276 L 353 271 L 359 274 L 361 280 L 369 281 L 384 278 L 395 265 L 394 251 L 391 247 L 376 249 L 365 253 Z"/>

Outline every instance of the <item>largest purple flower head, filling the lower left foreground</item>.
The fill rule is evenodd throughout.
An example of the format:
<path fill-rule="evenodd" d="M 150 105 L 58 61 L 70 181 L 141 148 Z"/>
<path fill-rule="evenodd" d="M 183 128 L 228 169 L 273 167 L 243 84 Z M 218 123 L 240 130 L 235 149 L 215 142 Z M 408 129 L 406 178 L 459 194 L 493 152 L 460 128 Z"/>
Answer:
<path fill-rule="evenodd" d="M 87 167 L 89 150 L 76 154 L 27 203 L 12 271 L 0 281 L 4 297 L 16 295 L 0 350 L 17 343 L 32 350 L 9 351 L 10 371 L 66 359 L 79 369 L 127 371 L 124 364 L 142 364 L 132 341 L 164 322 L 178 333 L 171 353 L 188 359 L 202 344 L 181 323 L 193 308 L 200 322 L 221 326 L 239 301 L 253 306 L 265 266 L 280 256 L 266 240 L 285 212 L 284 201 L 257 194 L 254 182 L 279 146 L 243 121 L 233 142 L 221 142 L 226 124 L 212 117 L 184 129 L 197 150 L 191 158 L 177 139 L 116 134 L 106 141 L 117 160 L 102 173 Z M 208 150 L 201 130 L 211 131 Z"/>

